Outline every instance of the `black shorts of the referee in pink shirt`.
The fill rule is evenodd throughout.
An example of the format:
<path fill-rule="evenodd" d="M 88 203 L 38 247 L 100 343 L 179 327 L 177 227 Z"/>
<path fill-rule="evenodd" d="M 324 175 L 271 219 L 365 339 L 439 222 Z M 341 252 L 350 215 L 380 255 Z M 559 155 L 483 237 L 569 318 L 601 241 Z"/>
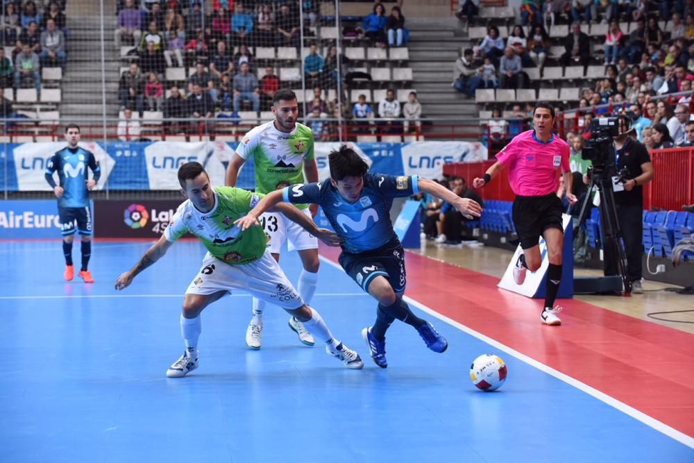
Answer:
<path fill-rule="evenodd" d="M 542 233 L 548 228 L 564 227 L 561 223 L 561 212 L 564 205 L 555 194 L 545 196 L 516 196 L 511 217 L 516 225 L 521 248 L 530 249 L 536 246 Z"/>

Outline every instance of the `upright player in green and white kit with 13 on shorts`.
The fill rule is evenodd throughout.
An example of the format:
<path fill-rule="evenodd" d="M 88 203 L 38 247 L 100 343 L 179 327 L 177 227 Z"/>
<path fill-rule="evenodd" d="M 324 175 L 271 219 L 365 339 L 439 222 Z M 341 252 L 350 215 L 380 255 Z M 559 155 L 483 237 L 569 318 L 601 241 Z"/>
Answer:
<path fill-rule="evenodd" d="M 267 194 L 289 185 L 318 181 L 318 166 L 313 151 L 313 131 L 298 124 L 298 103 L 291 90 L 278 90 L 273 97 L 272 108 L 275 120 L 253 128 L 246 134 L 229 162 L 226 185 L 235 186 L 239 170 L 246 160 L 255 160 L 255 191 Z M 305 178 L 304 178 L 305 174 Z M 307 217 L 315 217 L 317 205 L 296 204 Z M 268 249 L 275 260 L 280 261 L 280 250 L 289 241 L 288 249 L 296 249 L 303 264 L 299 276 L 298 292 L 303 300 L 311 303 L 318 284 L 318 239 L 298 224 L 278 212 L 266 212 L 260 224 L 269 236 Z M 253 298 L 253 318 L 246 330 L 246 345 L 260 348 L 262 335 L 262 313 L 265 301 Z M 313 346 L 311 333 L 295 317 L 289 319 L 289 328 L 294 330 L 303 344 Z"/>

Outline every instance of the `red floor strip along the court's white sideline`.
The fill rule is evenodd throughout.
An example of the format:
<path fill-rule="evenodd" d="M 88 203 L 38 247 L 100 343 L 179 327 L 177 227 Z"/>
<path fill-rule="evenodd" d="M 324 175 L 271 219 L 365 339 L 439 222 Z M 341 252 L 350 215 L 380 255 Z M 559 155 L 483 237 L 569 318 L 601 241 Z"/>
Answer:
<path fill-rule="evenodd" d="M 339 249 L 323 246 L 321 254 L 337 262 Z M 693 335 L 575 299 L 558 301 L 562 326 L 545 326 L 541 299 L 497 283 L 493 276 L 407 253 L 410 298 L 694 436 Z"/>

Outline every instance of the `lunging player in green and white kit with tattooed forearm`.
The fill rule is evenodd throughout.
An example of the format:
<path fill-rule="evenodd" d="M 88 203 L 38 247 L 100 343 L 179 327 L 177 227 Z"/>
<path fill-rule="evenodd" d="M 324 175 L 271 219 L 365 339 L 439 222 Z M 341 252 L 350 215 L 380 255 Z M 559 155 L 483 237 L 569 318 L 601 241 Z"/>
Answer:
<path fill-rule="evenodd" d="M 236 224 L 263 195 L 234 187 L 212 188 L 210 178 L 199 162 L 182 165 L 178 169 L 178 182 L 188 200 L 178 207 L 159 241 L 115 284 L 116 289 L 128 287 L 137 273 L 162 258 L 176 239 L 185 233 L 198 237 L 208 249 L 200 271 L 185 292 L 180 317 L 185 352 L 169 367 L 167 376 L 180 378 L 198 367 L 200 313 L 232 289 L 243 289 L 263 301 L 279 305 L 310 326 L 316 337 L 325 342 L 328 354 L 338 357 L 350 369 L 362 368 L 364 362 L 359 354 L 333 337 L 321 315 L 306 305 L 296 292 L 266 249 L 264 232 L 258 227 L 242 231 Z M 335 246 L 339 242 L 337 235 L 317 228 L 311 219 L 291 205 L 276 210 L 302 224 L 327 244 Z"/>

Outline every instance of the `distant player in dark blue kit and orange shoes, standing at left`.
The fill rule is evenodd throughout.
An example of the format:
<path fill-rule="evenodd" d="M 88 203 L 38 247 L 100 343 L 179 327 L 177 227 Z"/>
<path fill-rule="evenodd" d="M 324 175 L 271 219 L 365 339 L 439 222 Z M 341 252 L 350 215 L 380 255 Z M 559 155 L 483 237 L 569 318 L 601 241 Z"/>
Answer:
<path fill-rule="evenodd" d="M 78 125 L 69 124 L 65 127 L 65 140 L 67 146 L 57 151 L 46 167 L 46 182 L 51 185 L 58 198 L 62 252 L 65 254 L 65 280 L 70 281 L 75 276 L 72 265 L 72 241 L 75 232 L 78 231 L 82 239 L 82 267 L 79 276 L 85 283 L 94 283 L 92 273 L 87 269 L 92 255 L 92 210 L 89 206 L 89 190 L 99 181 L 101 169 L 92 151 L 77 146 L 80 141 Z M 91 180 L 87 167 L 92 169 Z M 53 179 L 55 171 L 58 171 L 58 185 Z"/>

